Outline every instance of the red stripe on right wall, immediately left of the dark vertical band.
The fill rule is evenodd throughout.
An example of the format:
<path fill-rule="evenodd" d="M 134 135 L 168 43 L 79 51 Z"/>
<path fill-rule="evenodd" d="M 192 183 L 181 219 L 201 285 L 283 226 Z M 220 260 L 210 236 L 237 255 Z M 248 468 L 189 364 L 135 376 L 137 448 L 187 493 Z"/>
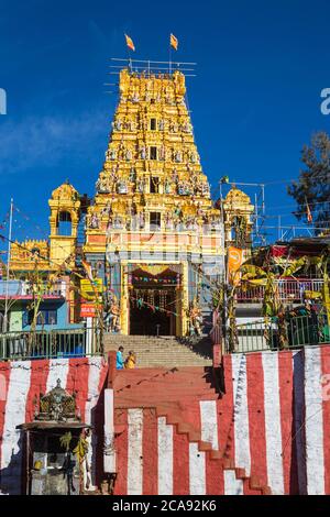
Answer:
<path fill-rule="evenodd" d="M 282 427 L 282 454 L 285 494 L 298 494 L 297 452 L 294 421 L 294 367 L 293 352 L 278 353 L 279 410 Z M 294 466 L 294 469 L 293 469 Z"/>

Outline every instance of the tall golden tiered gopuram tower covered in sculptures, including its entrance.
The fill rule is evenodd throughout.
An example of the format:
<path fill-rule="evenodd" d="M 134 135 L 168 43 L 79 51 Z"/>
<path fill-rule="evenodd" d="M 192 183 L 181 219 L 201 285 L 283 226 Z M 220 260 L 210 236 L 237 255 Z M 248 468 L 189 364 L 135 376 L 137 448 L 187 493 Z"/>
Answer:
<path fill-rule="evenodd" d="M 124 68 L 119 90 L 86 219 L 86 257 L 120 314 L 116 331 L 187 336 L 194 310 L 208 331 L 224 252 L 185 76 Z"/>

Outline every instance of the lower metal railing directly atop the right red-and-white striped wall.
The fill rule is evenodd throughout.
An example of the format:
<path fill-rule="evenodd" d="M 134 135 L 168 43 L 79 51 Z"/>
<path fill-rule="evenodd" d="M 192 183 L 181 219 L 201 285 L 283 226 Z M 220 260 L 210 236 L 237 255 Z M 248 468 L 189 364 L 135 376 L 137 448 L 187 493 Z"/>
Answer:
<path fill-rule="evenodd" d="M 330 321 L 327 315 L 297 316 L 285 321 L 265 318 L 237 326 L 234 352 L 299 349 L 322 343 L 330 344 Z"/>

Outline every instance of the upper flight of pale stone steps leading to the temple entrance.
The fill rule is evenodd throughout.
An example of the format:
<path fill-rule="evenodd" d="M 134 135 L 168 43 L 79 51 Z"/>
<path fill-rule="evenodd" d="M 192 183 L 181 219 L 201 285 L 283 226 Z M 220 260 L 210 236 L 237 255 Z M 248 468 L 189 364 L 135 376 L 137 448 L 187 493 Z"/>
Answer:
<path fill-rule="evenodd" d="M 124 348 L 124 358 L 130 350 L 136 354 L 136 367 L 210 366 L 212 343 L 208 337 L 194 342 L 172 336 L 122 336 L 105 334 L 105 353 Z"/>

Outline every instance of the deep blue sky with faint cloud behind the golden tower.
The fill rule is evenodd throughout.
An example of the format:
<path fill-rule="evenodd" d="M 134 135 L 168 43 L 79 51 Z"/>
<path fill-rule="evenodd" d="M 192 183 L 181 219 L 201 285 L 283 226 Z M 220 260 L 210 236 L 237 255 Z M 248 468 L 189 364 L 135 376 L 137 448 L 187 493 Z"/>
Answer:
<path fill-rule="evenodd" d="M 0 0 L 0 223 L 12 196 L 29 217 L 16 215 L 14 235 L 44 238 L 54 188 L 69 178 L 94 194 L 117 103 L 103 84 L 124 32 L 136 58 L 167 59 L 173 32 L 175 57 L 198 63 L 188 100 L 213 190 L 224 174 L 265 183 L 267 224 L 293 222 L 285 182 L 311 134 L 330 131 L 329 15 L 327 0 Z"/>

